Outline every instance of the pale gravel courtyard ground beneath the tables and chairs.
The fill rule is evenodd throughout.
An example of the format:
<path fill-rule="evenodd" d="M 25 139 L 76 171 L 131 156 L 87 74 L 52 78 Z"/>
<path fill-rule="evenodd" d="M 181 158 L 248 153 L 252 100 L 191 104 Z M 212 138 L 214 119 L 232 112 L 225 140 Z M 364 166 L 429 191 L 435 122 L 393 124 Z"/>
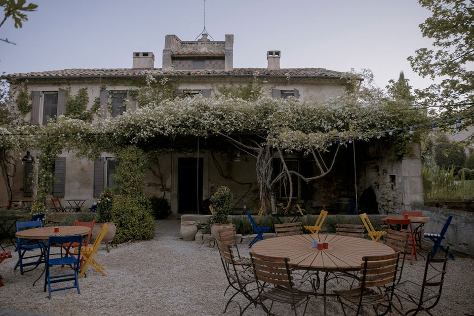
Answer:
<path fill-rule="evenodd" d="M 106 268 L 107 276 L 89 267 L 87 277 L 79 280 L 80 295 L 72 289 L 53 292 L 48 299 L 43 292 L 43 278 L 32 286 L 41 269 L 21 276 L 18 270 L 13 270 L 15 254 L 0 265 L 5 284 L 0 287 L 0 315 L 7 315 L 5 311 L 2 314 L 1 309 L 55 316 L 224 315 L 230 295 L 223 297 L 227 280 L 218 250 L 180 240 L 179 224 L 177 219 L 156 221 L 155 239 L 121 244 L 110 253 L 101 246 L 95 258 Z M 8 249 L 13 250 L 13 247 Z M 248 255 L 247 246 L 239 245 L 239 250 L 241 255 Z M 407 261 L 403 279 L 421 282 L 424 265 L 424 260 L 412 266 Z M 442 298 L 432 310 L 434 315 L 474 315 L 473 271 L 472 257 L 457 256 L 455 261 L 448 262 Z M 245 305 L 243 298 L 237 301 Z M 291 314 L 285 305 L 274 309 L 280 315 Z M 298 315 L 301 314 L 302 309 L 299 309 Z M 238 315 L 237 304 L 231 303 L 226 315 Z M 245 315 L 265 313 L 252 307 Z M 320 297 L 311 298 L 307 315 L 322 315 Z M 342 315 L 334 298 L 328 298 L 328 315 Z"/>

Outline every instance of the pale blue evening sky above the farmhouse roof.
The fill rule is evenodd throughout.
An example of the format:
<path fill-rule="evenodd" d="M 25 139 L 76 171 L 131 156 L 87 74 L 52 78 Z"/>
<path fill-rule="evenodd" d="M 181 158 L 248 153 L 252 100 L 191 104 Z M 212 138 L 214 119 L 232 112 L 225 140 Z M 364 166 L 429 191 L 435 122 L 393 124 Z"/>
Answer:
<path fill-rule="evenodd" d="M 27 1 L 29 3 L 30 1 Z M 132 52 L 152 51 L 161 68 L 164 36 L 194 40 L 204 27 L 203 0 L 33 0 L 22 29 L 0 28 L 0 71 L 131 68 Z M 403 70 L 415 88 L 431 80 L 406 58 L 432 40 L 418 28 L 431 16 L 415 0 L 206 0 L 206 30 L 234 34 L 234 68 L 266 68 L 268 50 L 281 68 L 368 68 L 385 87 Z"/>

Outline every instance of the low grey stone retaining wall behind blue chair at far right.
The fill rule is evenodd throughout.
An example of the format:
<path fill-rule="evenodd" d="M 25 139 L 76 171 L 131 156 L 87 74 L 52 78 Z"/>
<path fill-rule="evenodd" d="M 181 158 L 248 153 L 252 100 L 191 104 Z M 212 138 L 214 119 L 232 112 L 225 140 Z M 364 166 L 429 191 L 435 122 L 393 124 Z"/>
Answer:
<path fill-rule="evenodd" d="M 474 213 L 450 209 L 434 208 L 429 206 L 413 206 L 413 211 L 423 211 L 423 216 L 430 217 L 430 220 L 423 227 L 427 233 L 439 234 L 449 215 L 453 215 L 451 225 L 446 231 L 446 239 L 443 246 L 451 249 L 474 255 Z"/>

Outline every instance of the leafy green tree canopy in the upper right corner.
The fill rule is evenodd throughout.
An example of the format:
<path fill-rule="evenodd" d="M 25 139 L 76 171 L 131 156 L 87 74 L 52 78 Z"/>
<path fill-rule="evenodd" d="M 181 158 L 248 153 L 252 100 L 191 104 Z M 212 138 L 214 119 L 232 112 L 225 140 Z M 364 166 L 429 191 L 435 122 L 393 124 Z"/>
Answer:
<path fill-rule="evenodd" d="M 423 77 L 439 79 L 416 90 L 419 105 L 447 117 L 474 113 L 474 7 L 472 0 L 418 0 L 433 16 L 420 24 L 435 49 L 420 48 L 408 57 Z"/>

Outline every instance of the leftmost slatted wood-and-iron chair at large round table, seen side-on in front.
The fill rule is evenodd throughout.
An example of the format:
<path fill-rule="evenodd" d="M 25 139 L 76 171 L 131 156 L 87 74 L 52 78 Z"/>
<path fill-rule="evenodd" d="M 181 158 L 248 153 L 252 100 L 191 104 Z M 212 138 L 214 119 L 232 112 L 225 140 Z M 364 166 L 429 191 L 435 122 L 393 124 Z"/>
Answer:
<path fill-rule="evenodd" d="M 245 310 L 251 304 L 256 305 L 256 299 L 252 297 L 249 293 L 249 291 L 253 291 L 256 288 L 251 289 L 251 290 L 247 289 L 248 285 L 255 282 L 253 271 L 250 267 L 244 270 L 238 270 L 236 267 L 237 263 L 234 257 L 234 252 L 231 249 L 231 245 L 227 243 L 223 243 L 218 240 L 216 242 L 217 242 L 217 248 L 219 249 L 219 254 L 221 257 L 222 266 L 224 267 L 226 278 L 227 278 L 227 281 L 229 282 L 229 285 L 224 291 L 224 296 L 226 295 L 229 288 L 232 287 L 233 289 L 236 290 L 236 292 L 227 301 L 226 307 L 224 308 L 224 313 L 226 313 L 227 307 L 233 301 L 234 297 L 236 297 L 238 293 L 241 293 L 249 301 L 249 303 L 247 304 L 247 306 L 245 306 L 243 310 L 240 304 L 237 301 L 234 301 L 240 310 L 239 315 L 242 315 L 243 312 L 245 312 Z"/>

